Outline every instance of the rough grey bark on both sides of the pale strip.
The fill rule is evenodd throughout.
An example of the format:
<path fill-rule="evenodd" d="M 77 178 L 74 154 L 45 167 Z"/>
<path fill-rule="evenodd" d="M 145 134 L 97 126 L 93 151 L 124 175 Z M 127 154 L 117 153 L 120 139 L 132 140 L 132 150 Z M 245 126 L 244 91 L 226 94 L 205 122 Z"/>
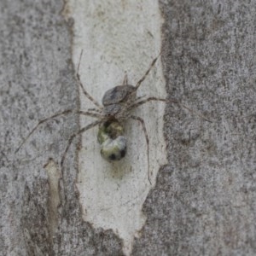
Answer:
<path fill-rule="evenodd" d="M 72 20 L 61 1 L 7 1 L 1 7 L 1 255 L 122 255 L 112 230 L 81 218 L 76 143 L 59 183 L 45 166 L 60 160 L 79 108 L 71 61 Z M 148 217 L 132 255 L 254 255 L 255 1 L 160 1 L 166 90 L 212 123 L 168 105 L 168 162 L 145 202 Z M 79 138 L 77 142 L 79 141 Z"/>

